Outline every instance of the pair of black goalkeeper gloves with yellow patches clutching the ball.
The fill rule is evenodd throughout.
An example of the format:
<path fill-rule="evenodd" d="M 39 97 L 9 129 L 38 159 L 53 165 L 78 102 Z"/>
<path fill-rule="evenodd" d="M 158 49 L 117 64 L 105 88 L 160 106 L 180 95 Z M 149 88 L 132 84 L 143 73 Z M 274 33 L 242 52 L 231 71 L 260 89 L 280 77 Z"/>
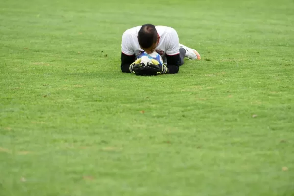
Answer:
<path fill-rule="evenodd" d="M 130 71 L 131 73 L 142 76 L 165 74 L 168 72 L 168 68 L 164 64 L 160 66 L 159 62 L 155 59 L 152 59 L 151 62 L 144 66 L 144 63 L 141 63 L 141 59 L 137 59 L 130 65 Z"/>

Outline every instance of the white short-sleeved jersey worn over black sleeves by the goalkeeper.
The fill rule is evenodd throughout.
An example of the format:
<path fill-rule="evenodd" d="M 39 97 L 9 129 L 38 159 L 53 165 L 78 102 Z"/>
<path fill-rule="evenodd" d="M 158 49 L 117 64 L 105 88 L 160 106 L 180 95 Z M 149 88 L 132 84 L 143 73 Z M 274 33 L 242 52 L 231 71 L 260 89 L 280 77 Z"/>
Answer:
<path fill-rule="evenodd" d="M 122 38 L 122 52 L 126 55 L 135 55 L 136 58 L 139 54 L 144 52 L 140 48 L 138 42 L 138 32 L 141 26 L 137 26 L 126 30 Z M 160 36 L 159 43 L 155 48 L 156 52 L 160 54 L 164 63 L 166 64 L 166 55 L 172 56 L 180 53 L 179 37 L 175 29 L 167 26 L 156 26 L 156 31 Z"/>

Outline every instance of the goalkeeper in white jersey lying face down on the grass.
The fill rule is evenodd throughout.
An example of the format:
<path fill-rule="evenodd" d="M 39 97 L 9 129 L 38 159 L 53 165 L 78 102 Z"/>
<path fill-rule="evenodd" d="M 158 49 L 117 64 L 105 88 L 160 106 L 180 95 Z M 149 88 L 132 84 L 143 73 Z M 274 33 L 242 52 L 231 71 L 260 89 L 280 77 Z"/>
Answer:
<path fill-rule="evenodd" d="M 144 66 L 137 57 L 142 52 L 152 53 L 156 51 L 161 55 L 163 62 L 167 68 L 167 73 L 178 73 L 179 66 L 184 64 L 184 58 L 190 60 L 200 60 L 200 54 L 195 50 L 188 48 L 179 43 L 177 32 L 170 27 L 154 26 L 145 24 L 126 30 L 122 38 L 122 54 L 121 54 L 121 70 L 126 73 L 136 73 L 137 75 L 156 75 L 158 70 L 166 70 L 160 68 L 156 64 Z M 140 70 L 140 73 L 138 72 Z M 145 72 L 146 70 L 146 72 Z M 144 74 L 147 73 L 147 74 Z"/>

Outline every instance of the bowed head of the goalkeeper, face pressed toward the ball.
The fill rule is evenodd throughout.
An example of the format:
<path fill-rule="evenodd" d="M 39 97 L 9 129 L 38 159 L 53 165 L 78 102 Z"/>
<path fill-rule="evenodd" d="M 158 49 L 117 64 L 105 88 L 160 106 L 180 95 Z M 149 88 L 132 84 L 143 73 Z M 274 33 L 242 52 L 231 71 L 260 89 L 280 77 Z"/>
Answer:
<path fill-rule="evenodd" d="M 152 24 L 142 25 L 138 33 L 138 42 L 144 51 L 152 53 L 159 42 L 159 35 Z"/>

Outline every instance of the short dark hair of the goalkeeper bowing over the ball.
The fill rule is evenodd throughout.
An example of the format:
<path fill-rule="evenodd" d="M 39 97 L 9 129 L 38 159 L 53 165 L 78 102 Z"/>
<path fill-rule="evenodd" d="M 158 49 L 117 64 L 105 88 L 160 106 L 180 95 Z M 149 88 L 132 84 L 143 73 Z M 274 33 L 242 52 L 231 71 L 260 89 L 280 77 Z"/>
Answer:
<path fill-rule="evenodd" d="M 157 42 L 157 30 L 152 24 L 142 25 L 138 33 L 138 42 L 143 48 L 150 48 Z"/>

